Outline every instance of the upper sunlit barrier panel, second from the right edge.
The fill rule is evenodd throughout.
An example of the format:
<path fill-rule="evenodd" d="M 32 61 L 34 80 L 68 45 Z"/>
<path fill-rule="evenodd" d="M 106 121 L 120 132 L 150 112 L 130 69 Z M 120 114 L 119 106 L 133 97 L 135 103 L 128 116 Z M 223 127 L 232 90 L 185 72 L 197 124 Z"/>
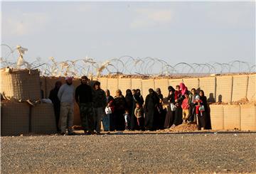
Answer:
<path fill-rule="evenodd" d="M 246 97 L 248 75 L 233 76 L 232 102 Z"/>

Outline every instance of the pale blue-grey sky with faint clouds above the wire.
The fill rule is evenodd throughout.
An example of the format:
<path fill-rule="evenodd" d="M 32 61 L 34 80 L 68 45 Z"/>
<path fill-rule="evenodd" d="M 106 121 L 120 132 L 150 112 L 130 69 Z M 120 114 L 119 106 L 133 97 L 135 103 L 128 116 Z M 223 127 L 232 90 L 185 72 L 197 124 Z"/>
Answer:
<path fill-rule="evenodd" d="M 255 63 L 255 2 L 2 2 L 1 43 L 29 62 L 130 55 Z M 4 48 L 3 53 L 4 53 Z"/>

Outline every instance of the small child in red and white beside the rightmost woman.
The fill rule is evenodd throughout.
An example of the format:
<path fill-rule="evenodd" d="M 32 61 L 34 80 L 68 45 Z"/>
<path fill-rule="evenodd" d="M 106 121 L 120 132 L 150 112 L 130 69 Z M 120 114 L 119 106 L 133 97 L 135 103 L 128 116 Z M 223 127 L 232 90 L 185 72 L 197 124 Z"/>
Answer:
<path fill-rule="evenodd" d="M 196 117 L 198 118 L 198 130 L 201 130 L 202 127 L 205 127 L 205 114 L 203 114 L 203 112 L 205 111 L 204 107 L 203 107 L 203 102 L 200 99 L 199 95 L 196 95 L 196 100 L 195 100 L 195 104 L 196 104 Z"/>

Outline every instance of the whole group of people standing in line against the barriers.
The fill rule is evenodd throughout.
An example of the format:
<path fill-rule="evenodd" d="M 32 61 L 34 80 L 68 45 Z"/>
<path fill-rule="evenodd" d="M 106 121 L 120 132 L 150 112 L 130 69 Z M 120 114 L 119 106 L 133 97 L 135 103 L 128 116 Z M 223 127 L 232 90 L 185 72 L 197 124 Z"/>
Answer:
<path fill-rule="evenodd" d="M 210 129 L 210 115 L 206 97 L 201 90 L 188 91 L 181 83 L 168 87 L 169 95 L 164 98 L 161 89 L 149 89 L 146 99 L 140 89 L 127 89 L 126 95 L 117 89 L 114 97 L 110 90 L 102 90 L 100 82 L 88 85 L 88 78 L 81 77 L 81 85 L 76 89 L 72 77 L 66 77 L 64 85 L 55 83 L 49 99 L 53 102 L 56 126 L 60 134 L 73 135 L 74 102 L 80 108 L 80 119 L 85 134 L 100 134 L 101 121 L 104 131 L 169 129 L 178 124 L 198 123 L 198 129 Z M 167 109 L 163 103 L 168 104 Z"/>

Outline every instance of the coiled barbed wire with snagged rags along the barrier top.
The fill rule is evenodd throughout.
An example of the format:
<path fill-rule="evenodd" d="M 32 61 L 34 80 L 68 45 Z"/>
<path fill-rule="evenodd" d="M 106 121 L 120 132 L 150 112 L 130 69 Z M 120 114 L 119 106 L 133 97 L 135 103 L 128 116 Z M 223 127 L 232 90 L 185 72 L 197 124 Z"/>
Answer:
<path fill-rule="evenodd" d="M 11 48 L 9 45 L 1 44 L 1 68 L 16 68 L 18 48 Z M 4 53 L 3 53 L 3 50 Z M 44 60 L 44 61 L 43 61 Z M 55 61 L 54 58 L 36 58 L 29 62 L 31 69 L 38 69 L 44 76 L 66 76 L 80 77 L 102 76 L 102 75 L 139 75 L 139 76 L 200 76 L 209 74 L 227 74 L 256 72 L 255 64 L 240 60 L 232 62 L 211 62 L 211 63 L 187 63 L 179 62 L 171 65 L 159 58 L 133 58 L 124 55 L 120 58 L 112 58 L 105 62 L 97 62 L 93 58 L 80 58 L 77 60 Z M 26 67 L 25 67 L 26 68 Z"/>

